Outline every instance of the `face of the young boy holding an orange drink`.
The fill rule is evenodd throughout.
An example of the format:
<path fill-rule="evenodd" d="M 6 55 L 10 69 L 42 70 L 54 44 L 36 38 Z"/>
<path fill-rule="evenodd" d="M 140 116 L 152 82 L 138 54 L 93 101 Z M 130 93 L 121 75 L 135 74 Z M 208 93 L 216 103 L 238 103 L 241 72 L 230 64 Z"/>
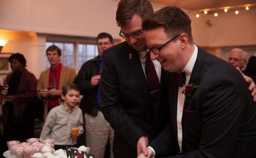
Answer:
<path fill-rule="evenodd" d="M 79 91 L 74 89 L 67 90 L 67 94 L 65 96 L 61 95 L 62 99 L 65 101 L 65 104 L 70 108 L 76 106 L 79 101 L 79 96 Z"/>

